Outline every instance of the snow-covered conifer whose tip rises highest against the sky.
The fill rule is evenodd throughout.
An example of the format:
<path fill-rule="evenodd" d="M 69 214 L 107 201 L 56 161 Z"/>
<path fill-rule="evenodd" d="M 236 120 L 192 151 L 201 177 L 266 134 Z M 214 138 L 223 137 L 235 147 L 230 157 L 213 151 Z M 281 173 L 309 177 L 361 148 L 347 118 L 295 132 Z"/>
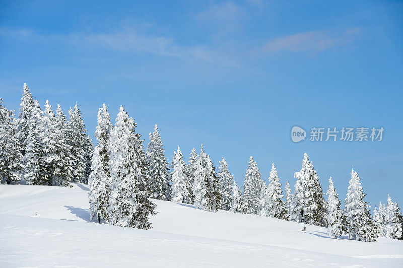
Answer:
<path fill-rule="evenodd" d="M 17 139 L 20 141 L 22 154 L 25 155 L 25 150 L 27 147 L 27 137 L 29 132 L 29 119 L 31 116 L 31 110 L 34 107 L 34 99 L 32 98 L 31 92 L 27 86 L 27 83 L 24 83 L 21 103 L 20 103 L 20 114 L 18 115 L 18 119 L 16 121 L 17 125 Z"/>

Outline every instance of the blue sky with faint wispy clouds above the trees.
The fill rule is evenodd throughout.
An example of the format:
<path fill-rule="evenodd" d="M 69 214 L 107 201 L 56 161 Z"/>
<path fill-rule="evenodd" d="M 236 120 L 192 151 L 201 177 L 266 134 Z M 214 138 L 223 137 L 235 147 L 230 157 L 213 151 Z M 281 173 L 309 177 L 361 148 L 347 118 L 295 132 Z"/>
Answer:
<path fill-rule="evenodd" d="M 203 143 L 238 184 L 248 158 L 293 185 L 303 153 L 342 200 L 351 168 L 371 206 L 403 206 L 403 4 L 394 1 L 2 1 L 0 97 L 22 85 L 65 112 L 78 101 L 93 137 L 106 103 L 159 125 L 167 158 Z M 295 144 L 294 125 L 383 127 L 382 142 Z M 309 135 L 309 133 L 308 133 Z"/>

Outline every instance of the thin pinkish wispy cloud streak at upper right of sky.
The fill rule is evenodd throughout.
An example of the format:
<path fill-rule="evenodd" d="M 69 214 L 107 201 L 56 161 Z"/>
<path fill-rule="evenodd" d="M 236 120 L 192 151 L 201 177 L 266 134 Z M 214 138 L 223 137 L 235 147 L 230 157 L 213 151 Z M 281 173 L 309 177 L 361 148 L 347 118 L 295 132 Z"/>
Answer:
<path fill-rule="evenodd" d="M 352 43 L 360 35 L 360 28 L 348 28 L 343 31 L 315 30 L 302 32 L 268 41 L 263 48 L 263 52 L 317 52 Z"/>

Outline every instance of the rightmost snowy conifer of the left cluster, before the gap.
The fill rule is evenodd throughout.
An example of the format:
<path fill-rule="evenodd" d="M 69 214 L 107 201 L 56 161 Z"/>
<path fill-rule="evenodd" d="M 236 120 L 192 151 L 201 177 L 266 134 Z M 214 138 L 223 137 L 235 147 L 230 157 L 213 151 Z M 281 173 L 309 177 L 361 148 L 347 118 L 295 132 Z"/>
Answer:
<path fill-rule="evenodd" d="M 72 180 L 74 182 L 88 182 L 88 177 L 86 174 L 88 172 L 87 167 L 91 165 L 91 163 L 87 163 L 89 160 L 88 157 L 88 148 L 92 147 L 89 145 L 89 140 L 87 137 L 87 129 L 85 128 L 84 120 L 81 116 L 81 111 L 76 102 L 74 108 L 70 108 L 69 110 L 69 122 L 68 127 L 70 133 L 70 146 L 72 146 L 72 167 L 73 167 L 73 176 Z"/>

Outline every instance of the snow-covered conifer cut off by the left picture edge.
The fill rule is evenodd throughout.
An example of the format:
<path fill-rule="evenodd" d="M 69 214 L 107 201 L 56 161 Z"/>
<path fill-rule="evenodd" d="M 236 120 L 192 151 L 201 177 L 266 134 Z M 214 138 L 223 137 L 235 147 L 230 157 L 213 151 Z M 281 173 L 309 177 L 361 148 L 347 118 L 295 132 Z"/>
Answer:
<path fill-rule="evenodd" d="M 0 182 L 10 184 L 21 178 L 24 166 L 21 145 L 16 137 L 14 112 L 3 105 L 0 98 Z"/>

